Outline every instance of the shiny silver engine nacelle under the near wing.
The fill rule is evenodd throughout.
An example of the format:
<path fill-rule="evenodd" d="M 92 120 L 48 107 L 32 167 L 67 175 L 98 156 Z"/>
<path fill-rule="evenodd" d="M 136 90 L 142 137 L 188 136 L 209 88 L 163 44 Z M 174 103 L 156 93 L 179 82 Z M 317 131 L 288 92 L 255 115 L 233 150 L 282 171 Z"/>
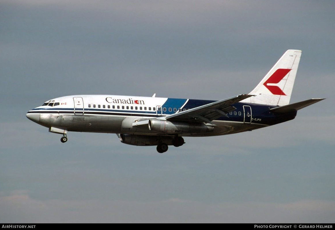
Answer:
<path fill-rule="evenodd" d="M 159 119 L 149 120 L 149 130 L 158 133 L 207 133 L 213 132 L 214 126 L 205 125 L 203 123 L 186 123 L 177 121 L 164 121 Z"/>

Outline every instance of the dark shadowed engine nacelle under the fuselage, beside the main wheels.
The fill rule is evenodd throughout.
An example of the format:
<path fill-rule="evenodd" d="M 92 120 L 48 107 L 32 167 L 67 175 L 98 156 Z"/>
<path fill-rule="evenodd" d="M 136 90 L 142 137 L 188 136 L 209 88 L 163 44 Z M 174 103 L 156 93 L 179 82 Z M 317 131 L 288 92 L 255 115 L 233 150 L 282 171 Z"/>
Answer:
<path fill-rule="evenodd" d="M 158 145 L 159 142 L 172 145 L 173 137 L 120 134 L 120 141 L 125 144 L 140 146 Z"/>

